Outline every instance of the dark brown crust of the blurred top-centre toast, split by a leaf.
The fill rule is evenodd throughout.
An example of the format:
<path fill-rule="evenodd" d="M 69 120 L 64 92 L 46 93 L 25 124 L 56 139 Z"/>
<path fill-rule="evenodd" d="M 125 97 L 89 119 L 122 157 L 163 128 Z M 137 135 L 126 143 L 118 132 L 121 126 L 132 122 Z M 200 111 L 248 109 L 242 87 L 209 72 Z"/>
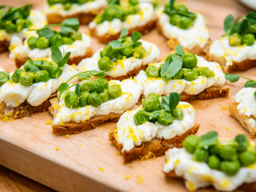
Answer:
<path fill-rule="evenodd" d="M 156 20 L 157 20 L 156 18 L 153 18 L 148 23 L 146 23 L 144 26 L 130 28 L 128 30 L 128 35 L 127 36 L 131 36 L 134 31 L 138 31 L 141 34 L 145 34 L 146 32 L 151 31 L 153 28 L 155 28 Z M 119 32 L 115 35 L 106 34 L 104 36 L 99 36 L 95 29 L 90 28 L 90 34 L 92 36 L 95 36 L 100 43 L 108 44 L 110 41 L 118 39 L 121 32 Z"/>

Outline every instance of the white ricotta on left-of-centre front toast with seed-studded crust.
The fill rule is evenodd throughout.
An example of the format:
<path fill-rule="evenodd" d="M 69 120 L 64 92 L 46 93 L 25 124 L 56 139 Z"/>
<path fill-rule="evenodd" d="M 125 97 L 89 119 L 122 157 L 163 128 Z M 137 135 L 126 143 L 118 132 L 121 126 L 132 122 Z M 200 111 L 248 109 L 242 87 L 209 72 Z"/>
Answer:
<path fill-rule="evenodd" d="M 65 105 L 64 96 L 70 91 L 75 91 L 75 86 L 63 92 L 59 102 L 60 108 L 54 117 L 53 123 L 61 124 L 69 121 L 80 123 L 81 121 L 88 120 L 97 115 L 108 115 L 109 113 L 120 114 L 132 108 L 138 102 L 140 94 L 142 93 L 142 87 L 137 81 L 132 79 L 125 79 L 122 82 L 111 80 L 109 81 L 109 85 L 111 84 L 119 84 L 121 86 L 122 95 L 116 99 L 101 103 L 99 107 L 87 105 L 86 107 L 70 109 Z"/>

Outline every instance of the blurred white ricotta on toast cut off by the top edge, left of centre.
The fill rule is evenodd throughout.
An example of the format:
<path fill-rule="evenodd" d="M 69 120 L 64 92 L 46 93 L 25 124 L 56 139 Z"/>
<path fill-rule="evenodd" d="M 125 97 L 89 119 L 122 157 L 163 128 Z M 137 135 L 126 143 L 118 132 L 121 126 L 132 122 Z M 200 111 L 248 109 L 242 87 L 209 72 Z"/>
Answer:
<path fill-rule="evenodd" d="M 89 13 L 89 12 L 97 12 L 101 8 L 107 6 L 106 0 L 95 0 L 91 2 L 87 2 L 84 4 L 72 4 L 69 10 L 64 9 L 64 4 L 57 3 L 53 5 L 49 5 L 46 1 L 44 3 L 43 12 L 46 15 L 49 14 L 58 14 L 61 16 L 74 15 L 76 13 Z"/>

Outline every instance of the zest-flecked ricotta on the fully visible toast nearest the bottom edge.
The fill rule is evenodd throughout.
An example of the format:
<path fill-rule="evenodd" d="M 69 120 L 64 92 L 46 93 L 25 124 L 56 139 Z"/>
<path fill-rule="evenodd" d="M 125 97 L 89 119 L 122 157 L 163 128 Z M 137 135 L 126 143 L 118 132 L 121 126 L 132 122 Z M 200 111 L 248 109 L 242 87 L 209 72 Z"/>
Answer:
<path fill-rule="evenodd" d="M 129 151 L 135 146 L 140 146 L 141 142 L 150 141 L 153 138 L 171 139 L 175 136 L 182 135 L 194 126 L 195 109 L 187 102 L 179 102 L 177 107 L 184 112 L 183 120 L 174 119 L 173 123 L 165 126 L 158 122 L 145 122 L 136 125 L 133 116 L 142 109 L 142 105 L 132 111 L 126 111 L 116 124 L 117 141 L 123 145 L 124 150 Z"/>

